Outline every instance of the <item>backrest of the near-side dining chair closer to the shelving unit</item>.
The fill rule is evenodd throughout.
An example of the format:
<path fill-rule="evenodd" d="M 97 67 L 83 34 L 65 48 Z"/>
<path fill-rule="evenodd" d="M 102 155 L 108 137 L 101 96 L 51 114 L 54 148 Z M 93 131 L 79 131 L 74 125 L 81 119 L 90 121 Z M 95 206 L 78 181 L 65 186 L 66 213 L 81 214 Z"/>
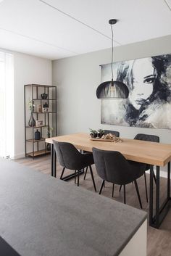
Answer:
<path fill-rule="evenodd" d="M 68 142 L 54 141 L 54 149 L 57 153 L 59 164 L 70 170 L 80 170 L 82 157 L 74 145 Z"/>

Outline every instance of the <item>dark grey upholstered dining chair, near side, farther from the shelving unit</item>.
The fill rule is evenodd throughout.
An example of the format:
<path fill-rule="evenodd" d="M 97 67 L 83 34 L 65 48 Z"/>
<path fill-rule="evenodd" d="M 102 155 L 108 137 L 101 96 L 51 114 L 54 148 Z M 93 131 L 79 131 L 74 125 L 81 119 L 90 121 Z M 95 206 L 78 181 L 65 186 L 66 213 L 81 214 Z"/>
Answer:
<path fill-rule="evenodd" d="M 123 185 L 124 203 L 126 203 L 125 185 L 134 181 L 140 207 L 142 208 L 141 197 L 136 180 L 143 176 L 146 164 L 139 162 L 130 163 L 120 152 L 96 148 L 93 148 L 93 158 L 96 165 L 96 171 L 103 180 L 99 194 L 101 194 L 104 187 L 104 181 L 113 183 L 112 197 L 114 195 L 114 184 Z"/>

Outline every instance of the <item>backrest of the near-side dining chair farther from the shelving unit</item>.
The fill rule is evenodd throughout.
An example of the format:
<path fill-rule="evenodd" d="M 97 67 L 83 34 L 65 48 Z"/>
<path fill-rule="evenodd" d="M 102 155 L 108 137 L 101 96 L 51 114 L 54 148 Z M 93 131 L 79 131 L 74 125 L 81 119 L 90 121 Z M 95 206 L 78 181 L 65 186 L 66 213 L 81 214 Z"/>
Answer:
<path fill-rule="evenodd" d="M 93 159 L 96 171 L 104 181 L 124 185 L 134 180 L 134 172 L 120 152 L 93 148 Z"/>

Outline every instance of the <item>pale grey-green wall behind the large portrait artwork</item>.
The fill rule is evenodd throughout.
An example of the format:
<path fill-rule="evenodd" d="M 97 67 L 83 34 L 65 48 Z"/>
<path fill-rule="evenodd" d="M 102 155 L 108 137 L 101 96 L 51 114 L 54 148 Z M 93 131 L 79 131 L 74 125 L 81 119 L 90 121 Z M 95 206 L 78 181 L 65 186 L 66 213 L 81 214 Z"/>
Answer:
<path fill-rule="evenodd" d="M 171 36 L 141 41 L 114 48 L 114 61 L 138 59 L 171 53 Z M 101 125 L 101 101 L 96 88 L 101 82 L 99 65 L 109 63 L 111 49 L 96 51 L 52 63 L 52 83 L 58 91 L 58 134 L 89 132 L 88 128 L 120 131 L 133 139 L 136 133 L 159 135 L 161 142 L 171 143 L 171 130 Z"/>

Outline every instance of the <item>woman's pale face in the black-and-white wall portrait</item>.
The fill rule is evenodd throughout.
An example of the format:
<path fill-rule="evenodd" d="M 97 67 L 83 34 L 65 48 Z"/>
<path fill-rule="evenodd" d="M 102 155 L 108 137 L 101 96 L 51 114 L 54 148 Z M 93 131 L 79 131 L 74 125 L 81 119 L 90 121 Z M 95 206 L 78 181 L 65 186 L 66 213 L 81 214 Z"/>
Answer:
<path fill-rule="evenodd" d="M 129 100 L 136 110 L 146 102 L 153 92 L 156 75 L 151 59 L 137 59 L 133 64 L 133 87 L 130 89 Z"/>

